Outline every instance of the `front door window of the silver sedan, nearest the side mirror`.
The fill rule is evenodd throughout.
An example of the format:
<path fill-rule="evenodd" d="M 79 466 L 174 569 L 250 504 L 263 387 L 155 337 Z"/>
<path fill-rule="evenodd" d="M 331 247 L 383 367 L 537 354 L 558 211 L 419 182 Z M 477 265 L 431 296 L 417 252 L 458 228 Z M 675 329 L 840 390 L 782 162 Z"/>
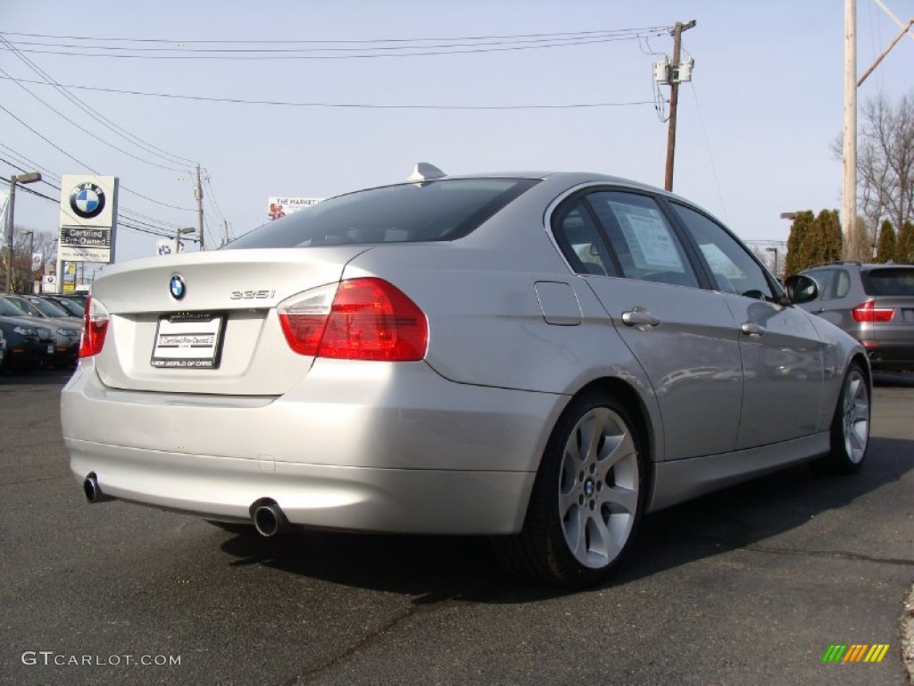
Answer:
<path fill-rule="evenodd" d="M 695 239 L 714 275 L 717 290 L 760 300 L 775 299 L 764 270 L 727 230 L 694 209 L 672 205 Z"/>

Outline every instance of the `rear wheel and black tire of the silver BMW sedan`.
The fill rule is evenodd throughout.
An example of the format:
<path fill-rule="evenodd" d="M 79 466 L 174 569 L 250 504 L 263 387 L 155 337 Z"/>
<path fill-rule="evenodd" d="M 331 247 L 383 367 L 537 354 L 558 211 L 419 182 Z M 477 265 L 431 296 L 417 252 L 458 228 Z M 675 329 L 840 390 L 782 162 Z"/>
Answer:
<path fill-rule="evenodd" d="M 537 584 L 605 581 L 641 520 L 642 446 L 637 424 L 611 395 L 585 392 L 570 402 L 549 437 L 523 531 L 494 539 L 502 563 Z"/>

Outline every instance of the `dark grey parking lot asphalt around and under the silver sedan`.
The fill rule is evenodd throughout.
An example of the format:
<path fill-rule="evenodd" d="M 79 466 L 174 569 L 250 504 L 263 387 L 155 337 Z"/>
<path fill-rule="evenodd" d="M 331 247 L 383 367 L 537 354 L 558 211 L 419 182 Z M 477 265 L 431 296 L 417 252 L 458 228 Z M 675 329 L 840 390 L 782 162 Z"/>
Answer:
<path fill-rule="evenodd" d="M 880 379 L 860 474 L 799 466 L 651 515 L 611 584 L 573 594 L 515 582 L 481 539 L 265 541 L 90 506 L 65 381 L 0 377 L 0 683 L 908 683 L 914 378 Z M 841 644 L 889 648 L 823 662 Z"/>

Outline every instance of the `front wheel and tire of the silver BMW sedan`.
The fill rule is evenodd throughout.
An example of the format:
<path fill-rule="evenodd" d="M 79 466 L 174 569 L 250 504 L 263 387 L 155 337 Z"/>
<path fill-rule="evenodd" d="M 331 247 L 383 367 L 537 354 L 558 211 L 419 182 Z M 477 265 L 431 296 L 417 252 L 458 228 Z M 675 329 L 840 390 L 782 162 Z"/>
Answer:
<path fill-rule="evenodd" d="M 812 464 L 819 474 L 855 474 L 869 447 L 869 381 L 858 362 L 851 362 L 834 408 L 831 449 Z"/>

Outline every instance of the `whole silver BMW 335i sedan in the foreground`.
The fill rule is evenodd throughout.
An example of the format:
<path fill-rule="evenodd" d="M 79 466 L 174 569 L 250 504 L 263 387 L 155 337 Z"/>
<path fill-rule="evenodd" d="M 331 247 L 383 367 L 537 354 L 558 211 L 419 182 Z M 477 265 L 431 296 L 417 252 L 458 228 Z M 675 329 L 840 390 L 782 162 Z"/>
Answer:
<path fill-rule="evenodd" d="M 870 396 L 865 348 L 687 200 L 432 168 L 106 269 L 61 419 L 90 502 L 488 534 L 515 572 L 583 586 L 645 512 L 856 472 Z"/>

